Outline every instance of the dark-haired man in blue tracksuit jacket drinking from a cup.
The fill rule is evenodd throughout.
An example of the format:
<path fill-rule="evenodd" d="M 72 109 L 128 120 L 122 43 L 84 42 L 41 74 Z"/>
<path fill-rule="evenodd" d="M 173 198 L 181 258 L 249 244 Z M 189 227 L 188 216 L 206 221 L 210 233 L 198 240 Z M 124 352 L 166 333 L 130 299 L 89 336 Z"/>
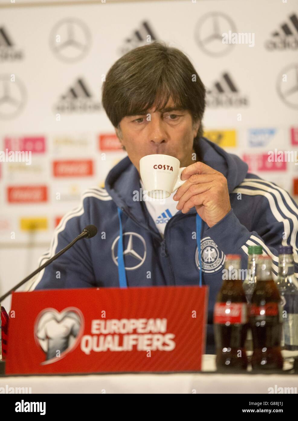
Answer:
<path fill-rule="evenodd" d="M 105 189 L 86 191 L 81 206 L 62 218 L 40 264 L 86 225 L 99 234 L 76 243 L 30 290 L 199 285 L 200 248 L 202 284 L 209 286 L 206 352 L 212 353 L 225 255 L 240 254 L 246 269 L 248 245 L 261 245 L 276 274 L 277 246 L 292 245 L 298 272 L 298 208 L 285 190 L 247 173 L 239 157 L 202 137 L 205 88 L 178 49 L 154 42 L 125 54 L 106 76 L 102 103 L 128 157 L 109 172 Z M 139 160 L 150 154 L 171 155 L 186 167 L 186 182 L 165 203 L 142 200 Z"/>

